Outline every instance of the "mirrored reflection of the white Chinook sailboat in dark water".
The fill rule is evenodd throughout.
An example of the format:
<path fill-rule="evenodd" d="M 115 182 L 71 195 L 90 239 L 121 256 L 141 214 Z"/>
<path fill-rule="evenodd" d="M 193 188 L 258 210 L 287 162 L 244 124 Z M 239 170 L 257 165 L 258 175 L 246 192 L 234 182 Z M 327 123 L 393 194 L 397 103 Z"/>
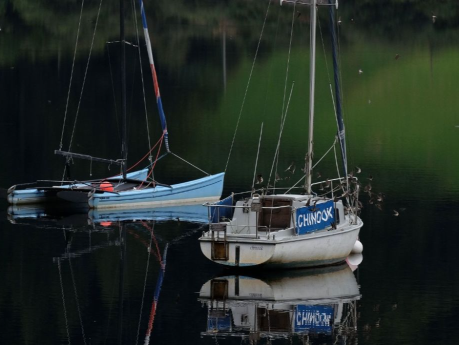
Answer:
<path fill-rule="evenodd" d="M 204 283 L 208 308 L 202 335 L 250 340 L 292 335 L 355 336 L 358 285 L 347 264 L 269 271 L 266 276 L 221 276 Z"/>

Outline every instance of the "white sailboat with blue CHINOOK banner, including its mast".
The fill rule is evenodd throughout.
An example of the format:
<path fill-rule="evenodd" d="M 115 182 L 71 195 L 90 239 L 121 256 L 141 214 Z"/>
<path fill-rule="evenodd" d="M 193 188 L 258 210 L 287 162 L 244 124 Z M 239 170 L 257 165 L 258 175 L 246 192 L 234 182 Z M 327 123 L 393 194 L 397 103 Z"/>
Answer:
<path fill-rule="evenodd" d="M 295 1 L 284 0 L 281 4 L 282 2 Z M 337 1 L 305 2 L 296 1 L 297 4 L 310 6 L 309 135 L 304 194 L 290 194 L 287 193 L 289 190 L 283 194 L 257 194 L 252 189 L 249 197 L 238 200 L 235 204 L 232 195 L 219 202 L 207 203 L 209 229 L 199 238 L 200 247 L 207 258 L 223 265 L 330 265 L 345 260 L 351 252 L 360 252 L 363 249 L 358 240 L 363 225 L 357 215 L 359 184 L 353 173 L 347 173 L 344 126 L 339 105 L 339 74 L 334 35 L 334 7 L 337 8 Z M 330 9 L 330 27 L 333 28 L 331 37 L 335 67 L 335 112 L 339 133 L 335 137 L 335 143 L 339 141 L 340 144 L 343 177 L 339 177 L 338 170 L 337 178 L 311 183 L 316 16 L 317 6 L 322 4 Z M 224 221 L 221 219 L 223 214 Z"/>

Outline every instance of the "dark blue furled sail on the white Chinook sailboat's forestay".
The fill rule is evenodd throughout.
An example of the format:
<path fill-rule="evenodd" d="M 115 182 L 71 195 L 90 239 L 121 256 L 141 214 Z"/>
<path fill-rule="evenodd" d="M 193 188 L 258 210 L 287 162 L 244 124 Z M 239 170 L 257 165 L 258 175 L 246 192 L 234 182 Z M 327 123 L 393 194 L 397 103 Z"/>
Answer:
<path fill-rule="evenodd" d="M 339 69 L 338 69 L 338 58 L 337 58 L 337 47 L 336 47 L 336 32 L 335 32 L 335 21 L 334 21 L 334 10 L 331 6 L 335 0 L 328 0 L 329 6 L 329 17 L 330 17 L 330 32 L 331 32 L 331 49 L 333 55 L 333 74 L 334 74 L 334 94 L 336 99 L 336 121 L 338 124 L 338 138 L 339 146 L 341 148 L 341 158 L 344 176 L 347 176 L 347 154 L 346 154 L 346 142 L 344 135 L 344 121 L 342 119 L 341 111 L 341 92 L 339 89 Z"/>

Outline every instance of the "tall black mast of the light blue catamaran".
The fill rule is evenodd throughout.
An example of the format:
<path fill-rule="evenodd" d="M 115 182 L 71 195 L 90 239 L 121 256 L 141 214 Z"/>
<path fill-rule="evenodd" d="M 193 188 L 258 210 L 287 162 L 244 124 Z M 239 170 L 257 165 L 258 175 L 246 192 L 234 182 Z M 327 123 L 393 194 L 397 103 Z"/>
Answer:
<path fill-rule="evenodd" d="M 127 125 L 126 125 L 126 46 L 124 44 L 124 0 L 119 0 L 119 41 L 121 44 L 121 154 L 122 178 L 126 178 L 127 165 Z"/>

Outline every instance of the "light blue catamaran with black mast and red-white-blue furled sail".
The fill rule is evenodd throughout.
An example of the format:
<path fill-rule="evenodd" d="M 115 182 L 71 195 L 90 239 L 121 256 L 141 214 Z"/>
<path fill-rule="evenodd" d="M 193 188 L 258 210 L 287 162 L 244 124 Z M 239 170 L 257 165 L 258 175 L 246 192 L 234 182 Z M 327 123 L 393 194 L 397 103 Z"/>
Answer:
<path fill-rule="evenodd" d="M 129 208 L 129 207 L 152 207 L 163 206 L 177 203 L 202 203 L 204 201 L 218 200 L 221 196 L 223 188 L 224 173 L 208 174 L 207 176 L 188 180 L 177 184 L 163 184 L 156 182 L 152 177 L 152 170 L 158 159 L 163 155 L 171 153 L 169 150 L 168 133 L 164 111 L 162 109 L 161 96 L 156 77 L 156 71 L 151 52 L 151 44 L 148 35 L 145 11 L 142 0 L 139 0 L 140 13 L 143 24 L 143 32 L 145 43 L 148 52 L 151 75 L 153 79 L 154 92 L 156 96 L 159 118 L 162 126 L 162 135 L 158 140 L 158 149 L 156 158 L 151 154 L 154 146 L 145 154 L 143 159 L 147 157 L 149 160 L 148 166 L 137 170 L 127 172 L 127 131 L 126 131 L 126 82 L 125 82 L 125 40 L 124 40 L 124 0 L 120 0 L 120 45 L 121 45 L 121 113 L 122 113 L 122 139 L 121 153 L 122 159 L 104 159 L 87 154 L 79 154 L 70 152 L 71 140 L 68 151 L 63 151 L 60 148 L 54 152 L 66 157 L 66 164 L 73 158 L 89 159 L 92 162 L 102 162 L 110 165 L 121 166 L 121 174 L 109 178 L 90 179 L 90 180 L 39 180 L 32 183 L 15 184 L 7 190 L 7 200 L 12 205 L 36 204 L 36 203 L 69 203 L 84 204 L 90 208 Z M 97 23 L 97 21 L 96 21 Z M 94 28 L 94 34 L 97 24 Z M 78 35 L 77 35 L 78 37 Z M 76 45 L 75 45 L 76 49 Z M 90 56 L 90 53 L 89 53 Z M 88 58 L 89 62 L 89 58 Z M 70 79 L 71 80 L 71 79 Z M 143 78 L 142 78 L 143 80 Z M 83 83 L 84 86 L 84 83 Z M 81 90 L 82 92 L 82 90 Z M 67 101 L 68 103 L 68 101 Z M 79 106 L 78 106 L 79 108 Z M 146 109 L 146 105 L 145 105 Z M 64 121 L 65 122 L 65 121 Z M 65 123 L 64 123 L 65 125 Z M 63 133 L 63 130 L 62 130 Z M 164 142 L 166 153 L 159 156 L 159 149 Z M 59 145 L 62 146 L 62 141 Z M 155 145 L 156 146 L 156 145 Z M 159 157 L 158 157 L 159 156 Z M 178 156 L 177 156 L 178 157 Z M 180 157 L 178 157 L 180 158 Z M 181 160 L 187 162 L 183 158 Z M 139 162 L 138 162 L 139 163 Z M 138 163 L 131 166 L 135 167 Z M 188 163 L 188 162 L 187 162 Z M 191 164 L 191 163 L 189 163 Z M 192 165 L 192 164 L 191 164 Z M 195 167 L 194 165 L 192 165 Z M 67 169 L 68 171 L 68 169 Z M 55 185 L 58 184 L 58 185 Z"/>

